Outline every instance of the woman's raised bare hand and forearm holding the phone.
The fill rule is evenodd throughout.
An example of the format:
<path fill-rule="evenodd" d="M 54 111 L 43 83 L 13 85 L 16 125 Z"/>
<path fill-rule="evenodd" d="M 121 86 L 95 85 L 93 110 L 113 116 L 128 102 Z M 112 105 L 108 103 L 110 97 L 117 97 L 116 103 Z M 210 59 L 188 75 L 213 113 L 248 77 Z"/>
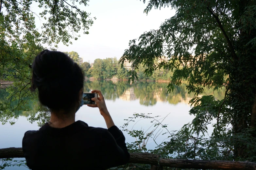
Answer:
<path fill-rule="evenodd" d="M 98 98 L 96 98 L 96 97 L 92 98 L 92 100 L 96 103 L 96 105 L 87 105 L 87 106 L 98 107 L 100 114 L 103 116 L 103 118 L 106 121 L 107 127 L 110 128 L 110 127 L 114 126 L 115 124 L 109 114 L 109 111 L 105 104 L 105 100 L 104 100 L 102 93 L 99 90 L 93 90 L 92 93 L 98 93 L 98 95 L 99 95 Z"/>

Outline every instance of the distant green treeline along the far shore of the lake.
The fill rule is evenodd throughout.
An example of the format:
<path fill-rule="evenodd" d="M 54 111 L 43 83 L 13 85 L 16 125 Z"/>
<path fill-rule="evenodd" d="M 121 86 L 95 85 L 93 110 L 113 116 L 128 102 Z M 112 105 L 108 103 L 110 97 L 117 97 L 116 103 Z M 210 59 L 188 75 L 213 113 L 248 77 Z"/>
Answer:
<path fill-rule="evenodd" d="M 158 60 L 155 61 L 157 64 Z M 88 78 L 94 77 L 95 79 L 112 79 L 117 78 L 120 80 L 127 80 L 130 76 L 128 69 L 121 68 L 121 64 L 116 58 L 96 59 L 94 60 L 93 67 L 90 63 L 84 62 L 80 65 L 84 71 L 85 76 Z M 153 72 L 152 76 L 144 74 L 146 67 L 141 64 L 137 71 L 139 80 L 169 80 L 172 72 L 167 69 L 157 69 Z"/>

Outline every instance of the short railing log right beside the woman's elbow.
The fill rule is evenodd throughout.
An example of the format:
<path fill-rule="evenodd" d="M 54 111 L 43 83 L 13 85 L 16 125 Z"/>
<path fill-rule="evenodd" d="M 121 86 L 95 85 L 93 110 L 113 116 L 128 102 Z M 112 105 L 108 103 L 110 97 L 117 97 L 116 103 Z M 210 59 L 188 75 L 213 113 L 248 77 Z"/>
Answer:
<path fill-rule="evenodd" d="M 151 153 L 130 153 L 129 163 L 158 165 L 159 156 Z"/>

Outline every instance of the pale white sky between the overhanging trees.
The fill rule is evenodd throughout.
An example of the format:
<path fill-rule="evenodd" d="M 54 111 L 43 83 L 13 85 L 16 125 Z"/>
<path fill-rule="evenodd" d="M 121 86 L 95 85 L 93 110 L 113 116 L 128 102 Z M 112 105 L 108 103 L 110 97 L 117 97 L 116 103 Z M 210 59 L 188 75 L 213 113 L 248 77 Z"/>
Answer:
<path fill-rule="evenodd" d="M 96 17 L 89 35 L 81 32 L 78 40 L 68 47 L 59 44 L 59 51 L 76 51 L 84 62 L 96 58 L 116 57 L 119 59 L 128 48 L 129 40 L 138 38 L 145 31 L 158 29 L 165 19 L 175 15 L 169 8 L 152 9 L 143 13 L 147 4 L 139 0 L 91 0 L 88 7 L 78 6 Z M 82 31 L 82 30 L 81 30 Z"/>

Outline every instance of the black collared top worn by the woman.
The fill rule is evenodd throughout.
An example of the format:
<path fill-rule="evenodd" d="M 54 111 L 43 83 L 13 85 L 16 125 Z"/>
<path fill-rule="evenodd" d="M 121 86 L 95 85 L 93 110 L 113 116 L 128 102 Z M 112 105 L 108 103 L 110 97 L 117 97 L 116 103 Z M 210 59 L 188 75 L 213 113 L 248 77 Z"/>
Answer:
<path fill-rule="evenodd" d="M 27 131 L 22 148 L 27 166 L 38 169 L 107 169 L 128 163 L 125 136 L 116 127 L 88 127 L 83 121 L 64 128 L 45 123 Z"/>

